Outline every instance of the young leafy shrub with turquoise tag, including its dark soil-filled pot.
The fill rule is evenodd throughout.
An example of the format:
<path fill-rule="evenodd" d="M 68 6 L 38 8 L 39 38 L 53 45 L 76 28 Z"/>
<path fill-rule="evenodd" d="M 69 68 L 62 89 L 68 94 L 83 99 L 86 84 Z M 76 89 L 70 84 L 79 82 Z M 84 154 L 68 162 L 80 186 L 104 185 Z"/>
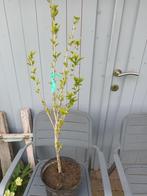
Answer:
<path fill-rule="evenodd" d="M 31 51 L 27 57 L 27 63 L 30 67 L 30 77 L 35 84 L 35 92 L 49 118 L 54 130 L 54 147 L 56 158 L 47 162 L 42 168 L 42 179 L 47 185 L 48 194 L 53 195 L 72 195 L 75 188 L 80 183 L 81 170 L 80 165 L 70 159 L 60 156 L 62 144 L 60 142 L 61 128 L 64 119 L 78 100 L 78 93 L 83 79 L 76 75 L 75 70 L 80 66 L 82 60 L 79 54 L 80 39 L 75 38 L 75 32 L 78 27 L 79 17 L 74 16 L 72 31 L 67 39 L 67 47 L 62 54 L 58 51 L 58 33 L 60 25 L 56 21 L 59 7 L 53 0 L 48 0 L 51 15 L 51 48 L 52 60 L 50 69 L 50 91 L 52 96 L 51 107 L 41 95 L 40 80 L 37 76 L 35 66 L 35 52 Z M 60 73 L 57 69 L 58 59 L 64 55 L 63 71 Z M 72 87 L 66 91 L 68 81 L 72 80 Z M 70 177 L 72 175 L 72 177 Z M 49 177 L 50 176 L 50 177 Z"/>

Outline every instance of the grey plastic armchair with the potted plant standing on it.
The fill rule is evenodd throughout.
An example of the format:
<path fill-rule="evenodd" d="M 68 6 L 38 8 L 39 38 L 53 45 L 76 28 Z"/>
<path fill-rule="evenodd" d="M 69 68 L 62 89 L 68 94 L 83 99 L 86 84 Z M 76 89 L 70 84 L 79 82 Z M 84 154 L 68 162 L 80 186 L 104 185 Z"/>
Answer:
<path fill-rule="evenodd" d="M 91 160 L 91 150 L 96 151 L 99 159 L 99 168 L 101 170 L 104 195 L 111 196 L 111 187 L 107 174 L 103 153 L 97 146 L 91 143 L 92 122 L 90 117 L 83 112 L 71 112 L 65 119 L 62 128 L 61 142 L 63 143 L 62 155 L 69 156 L 82 164 L 82 182 L 77 196 L 91 196 L 90 180 L 88 174 L 88 166 Z M 45 187 L 40 179 L 41 166 L 49 157 L 54 157 L 53 149 L 53 130 L 49 124 L 48 117 L 45 112 L 36 115 L 33 126 L 34 135 L 34 154 L 36 158 L 36 167 L 33 171 L 31 179 L 25 190 L 26 196 L 46 196 Z M 4 190 L 10 180 L 13 171 L 25 152 L 27 146 L 21 149 L 16 155 L 10 168 L 0 184 L 0 195 L 4 194 Z"/>

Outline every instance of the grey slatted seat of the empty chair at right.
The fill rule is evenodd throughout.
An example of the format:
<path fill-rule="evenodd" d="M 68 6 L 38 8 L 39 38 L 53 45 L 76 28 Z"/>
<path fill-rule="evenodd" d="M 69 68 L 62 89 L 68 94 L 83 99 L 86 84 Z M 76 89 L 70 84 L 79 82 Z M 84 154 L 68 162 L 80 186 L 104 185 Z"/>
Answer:
<path fill-rule="evenodd" d="M 147 195 L 147 165 L 128 165 L 125 166 L 125 174 L 127 175 L 133 195 Z"/>

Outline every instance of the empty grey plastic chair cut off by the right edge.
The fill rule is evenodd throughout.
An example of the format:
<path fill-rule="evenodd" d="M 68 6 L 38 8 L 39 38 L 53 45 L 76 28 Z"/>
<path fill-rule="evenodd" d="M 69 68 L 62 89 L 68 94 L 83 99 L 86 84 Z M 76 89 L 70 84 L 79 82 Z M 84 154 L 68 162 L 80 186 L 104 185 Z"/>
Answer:
<path fill-rule="evenodd" d="M 114 161 L 125 196 L 147 196 L 147 114 L 124 119 Z"/>

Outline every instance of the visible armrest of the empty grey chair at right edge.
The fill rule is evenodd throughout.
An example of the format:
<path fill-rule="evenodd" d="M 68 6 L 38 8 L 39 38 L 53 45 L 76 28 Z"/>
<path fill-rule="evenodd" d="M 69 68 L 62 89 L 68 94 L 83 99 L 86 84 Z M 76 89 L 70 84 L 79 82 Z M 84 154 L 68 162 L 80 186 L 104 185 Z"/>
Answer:
<path fill-rule="evenodd" d="M 122 163 L 120 161 L 118 152 L 114 153 L 114 162 L 116 165 L 116 169 L 117 169 L 125 196 L 133 196 L 133 194 L 131 193 L 130 186 L 126 178 Z"/>

